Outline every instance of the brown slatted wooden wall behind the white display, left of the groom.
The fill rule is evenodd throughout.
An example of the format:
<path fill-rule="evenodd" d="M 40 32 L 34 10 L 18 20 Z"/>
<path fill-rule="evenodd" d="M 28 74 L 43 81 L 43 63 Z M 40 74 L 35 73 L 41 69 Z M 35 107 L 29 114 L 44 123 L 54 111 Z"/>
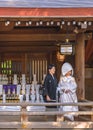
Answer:
<path fill-rule="evenodd" d="M 4 70 L 9 73 L 9 70 L 12 70 L 12 74 L 18 74 L 21 76 L 22 73 L 28 74 L 32 76 L 36 74 L 37 81 L 42 82 L 43 75 L 47 73 L 47 55 L 43 53 L 6 53 L 1 59 L 2 66 L 4 66 L 4 61 L 6 62 L 6 68 L 0 67 L 2 69 L 2 73 L 4 74 Z M 12 67 L 8 68 L 9 62 L 12 61 Z M 31 77 L 30 77 L 31 78 Z M 32 78 L 31 78 L 32 79 Z M 31 80 L 30 80 L 31 81 Z"/>

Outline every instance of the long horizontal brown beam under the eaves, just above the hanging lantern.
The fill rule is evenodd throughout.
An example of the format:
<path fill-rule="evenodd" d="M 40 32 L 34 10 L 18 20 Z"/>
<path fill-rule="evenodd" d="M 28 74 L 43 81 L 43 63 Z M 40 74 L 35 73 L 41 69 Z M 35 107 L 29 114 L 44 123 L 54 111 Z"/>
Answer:
<path fill-rule="evenodd" d="M 75 34 L 68 35 L 75 40 Z M 65 34 L 0 34 L 0 41 L 65 41 Z"/>

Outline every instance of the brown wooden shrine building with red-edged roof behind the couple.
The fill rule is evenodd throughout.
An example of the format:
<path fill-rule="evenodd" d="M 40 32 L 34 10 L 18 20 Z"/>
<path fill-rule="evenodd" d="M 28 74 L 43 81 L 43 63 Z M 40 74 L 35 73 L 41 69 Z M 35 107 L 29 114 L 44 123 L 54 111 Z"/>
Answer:
<path fill-rule="evenodd" d="M 26 74 L 28 82 L 36 74 L 42 83 L 49 63 L 56 64 L 59 80 L 61 66 L 68 61 L 79 99 L 93 100 L 93 2 L 76 2 L 0 1 L 0 73 Z M 66 44 L 73 47 L 70 55 L 60 53 Z"/>

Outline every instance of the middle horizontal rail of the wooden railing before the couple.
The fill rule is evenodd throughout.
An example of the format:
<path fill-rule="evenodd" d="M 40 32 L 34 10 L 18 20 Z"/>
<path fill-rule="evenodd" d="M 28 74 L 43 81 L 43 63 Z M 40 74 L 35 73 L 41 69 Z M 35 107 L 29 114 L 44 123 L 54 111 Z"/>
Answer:
<path fill-rule="evenodd" d="M 0 111 L 0 116 L 21 116 L 25 114 L 26 116 L 63 116 L 64 114 L 71 114 L 71 115 L 93 115 L 93 111 L 92 108 L 90 110 L 87 111 L 77 111 L 77 112 L 71 112 L 71 111 L 67 111 L 67 112 L 60 112 L 57 110 L 51 110 L 51 111 Z"/>

